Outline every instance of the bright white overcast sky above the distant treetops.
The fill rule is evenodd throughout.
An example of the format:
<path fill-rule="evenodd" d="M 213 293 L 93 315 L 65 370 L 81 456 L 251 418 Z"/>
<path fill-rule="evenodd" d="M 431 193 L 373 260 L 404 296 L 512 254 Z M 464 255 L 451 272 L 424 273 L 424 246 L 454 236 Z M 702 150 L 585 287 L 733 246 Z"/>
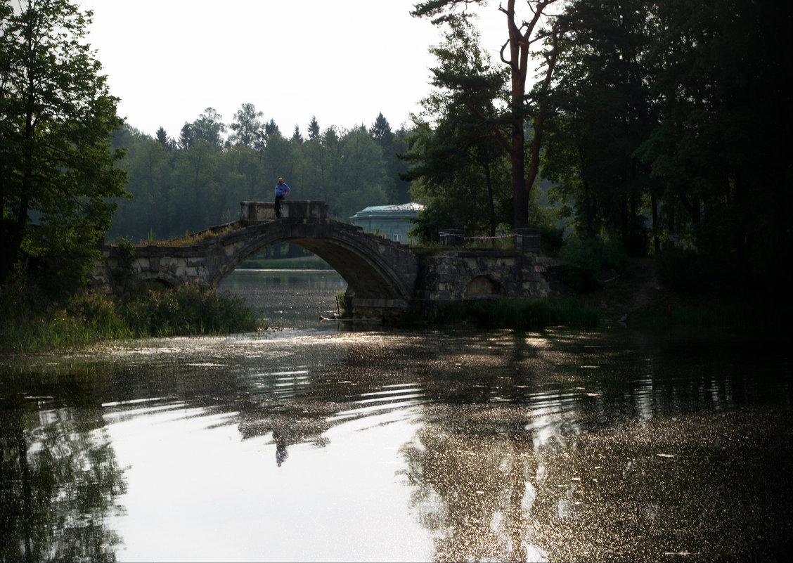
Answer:
<path fill-rule="evenodd" d="M 396 130 L 431 91 L 427 48 L 442 30 L 410 15 L 417 0 L 78 0 L 94 10 L 89 42 L 132 127 L 177 137 L 208 107 L 226 124 L 252 103 L 290 136 L 370 127 Z M 482 11 L 482 44 L 506 39 L 498 4 Z"/>

